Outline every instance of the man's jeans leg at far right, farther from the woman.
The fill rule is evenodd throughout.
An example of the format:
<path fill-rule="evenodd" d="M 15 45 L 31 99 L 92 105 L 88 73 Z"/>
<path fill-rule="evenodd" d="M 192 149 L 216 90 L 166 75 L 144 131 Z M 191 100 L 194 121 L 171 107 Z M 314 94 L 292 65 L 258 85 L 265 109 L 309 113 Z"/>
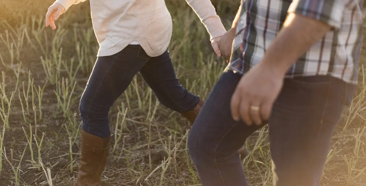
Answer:
<path fill-rule="evenodd" d="M 329 76 L 285 79 L 269 119 L 274 186 L 320 186 L 320 176 L 354 85 Z"/>

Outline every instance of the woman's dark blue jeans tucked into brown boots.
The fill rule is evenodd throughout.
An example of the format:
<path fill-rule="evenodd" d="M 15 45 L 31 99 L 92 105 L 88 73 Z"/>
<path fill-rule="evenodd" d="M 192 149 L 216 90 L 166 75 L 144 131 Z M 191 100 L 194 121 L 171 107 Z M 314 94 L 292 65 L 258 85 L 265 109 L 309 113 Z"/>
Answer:
<path fill-rule="evenodd" d="M 165 107 L 185 112 L 198 104 L 199 98 L 180 85 L 168 51 L 150 57 L 140 45 L 128 45 L 94 64 L 79 105 L 84 131 L 108 137 L 109 109 L 138 72 Z"/>

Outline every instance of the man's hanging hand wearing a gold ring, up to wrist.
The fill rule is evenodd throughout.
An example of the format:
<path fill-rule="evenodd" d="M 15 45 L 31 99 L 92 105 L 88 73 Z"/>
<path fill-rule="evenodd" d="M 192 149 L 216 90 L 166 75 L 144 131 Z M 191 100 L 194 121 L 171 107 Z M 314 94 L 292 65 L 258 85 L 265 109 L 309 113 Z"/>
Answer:
<path fill-rule="evenodd" d="M 251 68 L 240 79 L 231 97 L 232 118 L 242 119 L 247 125 L 259 125 L 268 120 L 283 80 L 284 73 L 262 62 Z"/>

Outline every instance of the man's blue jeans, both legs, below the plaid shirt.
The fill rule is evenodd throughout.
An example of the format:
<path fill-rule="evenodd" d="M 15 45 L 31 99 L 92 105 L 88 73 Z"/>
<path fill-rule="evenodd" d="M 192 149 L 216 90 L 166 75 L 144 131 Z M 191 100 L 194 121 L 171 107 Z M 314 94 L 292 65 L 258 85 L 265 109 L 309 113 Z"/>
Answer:
<path fill-rule="evenodd" d="M 333 128 L 355 85 L 330 76 L 285 79 L 267 122 L 248 126 L 231 117 L 230 100 L 241 76 L 225 71 L 210 92 L 188 137 L 203 186 L 247 186 L 238 149 L 269 125 L 273 185 L 319 186 Z"/>

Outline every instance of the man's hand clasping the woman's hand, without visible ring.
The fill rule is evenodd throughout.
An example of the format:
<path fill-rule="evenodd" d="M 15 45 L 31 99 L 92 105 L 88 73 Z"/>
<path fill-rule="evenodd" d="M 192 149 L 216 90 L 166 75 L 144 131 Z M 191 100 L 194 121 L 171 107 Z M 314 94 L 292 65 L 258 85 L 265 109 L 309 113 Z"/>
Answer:
<path fill-rule="evenodd" d="M 227 60 L 227 62 L 229 61 L 231 56 L 231 48 L 232 48 L 232 42 L 234 41 L 234 37 L 235 37 L 235 28 L 231 28 L 223 36 L 221 36 L 221 39 L 218 43 L 221 55 L 225 60 Z"/>

